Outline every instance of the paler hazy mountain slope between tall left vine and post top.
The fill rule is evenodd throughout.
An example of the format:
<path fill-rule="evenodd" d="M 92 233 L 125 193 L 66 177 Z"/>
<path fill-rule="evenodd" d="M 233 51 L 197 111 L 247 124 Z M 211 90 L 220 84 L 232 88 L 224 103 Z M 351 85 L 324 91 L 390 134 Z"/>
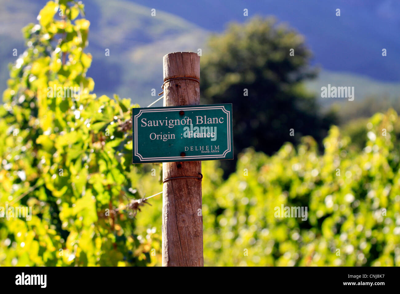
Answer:
<path fill-rule="evenodd" d="M 0 0 L 0 91 L 6 89 L 8 64 L 24 51 L 22 27 L 37 22 L 36 16 L 45 0 Z M 142 105 L 154 101 L 152 89 L 161 92 L 162 57 L 175 51 L 202 48 L 208 32 L 186 20 L 123 0 L 84 0 L 86 18 L 90 20 L 89 46 L 93 56 L 88 70 L 99 96 L 114 93 L 129 97 Z M 105 50 L 110 50 L 110 56 Z"/>

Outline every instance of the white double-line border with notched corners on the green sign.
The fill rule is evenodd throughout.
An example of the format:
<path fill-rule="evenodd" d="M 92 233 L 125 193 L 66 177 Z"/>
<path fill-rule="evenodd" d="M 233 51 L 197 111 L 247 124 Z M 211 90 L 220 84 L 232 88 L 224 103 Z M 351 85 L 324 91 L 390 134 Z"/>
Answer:
<path fill-rule="evenodd" d="M 134 116 L 135 120 L 135 146 L 134 146 L 134 156 L 138 156 L 141 161 L 150 161 L 150 160 L 157 160 L 157 159 L 182 159 L 181 156 L 166 156 L 166 157 L 146 157 L 144 158 L 141 154 L 138 153 L 138 118 L 144 112 L 169 112 L 169 111 L 177 111 L 177 110 L 208 110 L 208 109 L 221 109 L 223 112 L 227 114 L 228 123 L 227 123 L 227 131 L 228 131 L 228 149 L 224 151 L 222 155 L 197 155 L 197 156 L 185 156 L 184 159 L 199 159 L 199 158 L 224 158 L 225 154 L 231 151 L 230 146 L 230 112 L 225 109 L 225 106 L 207 106 L 207 107 L 182 107 L 182 108 L 171 108 L 171 109 L 141 109 L 138 114 Z"/>

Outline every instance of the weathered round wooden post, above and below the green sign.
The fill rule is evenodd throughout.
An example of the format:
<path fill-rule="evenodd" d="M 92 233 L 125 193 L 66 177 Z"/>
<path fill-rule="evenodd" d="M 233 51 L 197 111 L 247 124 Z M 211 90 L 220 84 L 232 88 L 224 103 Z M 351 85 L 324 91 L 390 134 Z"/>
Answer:
<path fill-rule="evenodd" d="M 174 52 L 164 56 L 164 82 L 200 79 L 200 56 Z M 164 106 L 200 104 L 195 80 L 176 79 L 164 85 Z M 200 176 L 201 161 L 164 162 L 162 178 Z M 172 179 L 164 183 L 162 200 L 162 266 L 204 266 L 201 181 Z"/>

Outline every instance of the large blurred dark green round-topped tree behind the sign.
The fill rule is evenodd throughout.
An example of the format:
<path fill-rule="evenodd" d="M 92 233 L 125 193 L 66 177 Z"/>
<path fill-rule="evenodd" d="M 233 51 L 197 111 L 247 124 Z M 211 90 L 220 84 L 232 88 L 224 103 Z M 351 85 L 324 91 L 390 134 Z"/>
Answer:
<path fill-rule="evenodd" d="M 208 45 L 200 70 L 202 101 L 233 104 L 236 154 L 248 146 L 272 154 L 302 135 L 321 142 L 336 122 L 332 114 L 320 116 L 316 99 L 304 90 L 302 81 L 316 72 L 308 67 L 304 38 L 294 30 L 256 17 L 231 24 Z M 233 168 L 232 161 L 228 165 Z"/>

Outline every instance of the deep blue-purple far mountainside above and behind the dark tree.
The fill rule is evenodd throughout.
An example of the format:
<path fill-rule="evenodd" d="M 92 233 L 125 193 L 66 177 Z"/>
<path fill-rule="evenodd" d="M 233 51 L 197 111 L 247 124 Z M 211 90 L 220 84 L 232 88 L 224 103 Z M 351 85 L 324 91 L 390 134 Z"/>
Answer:
<path fill-rule="evenodd" d="M 306 37 L 314 64 L 383 81 L 400 81 L 399 0 L 130 0 L 159 8 L 213 32 L 229 21 L 273 15 Z M 336 9 L 340 16 L 336 16 Z M 382 48 L 387 56 L 382 56 Z"/>

